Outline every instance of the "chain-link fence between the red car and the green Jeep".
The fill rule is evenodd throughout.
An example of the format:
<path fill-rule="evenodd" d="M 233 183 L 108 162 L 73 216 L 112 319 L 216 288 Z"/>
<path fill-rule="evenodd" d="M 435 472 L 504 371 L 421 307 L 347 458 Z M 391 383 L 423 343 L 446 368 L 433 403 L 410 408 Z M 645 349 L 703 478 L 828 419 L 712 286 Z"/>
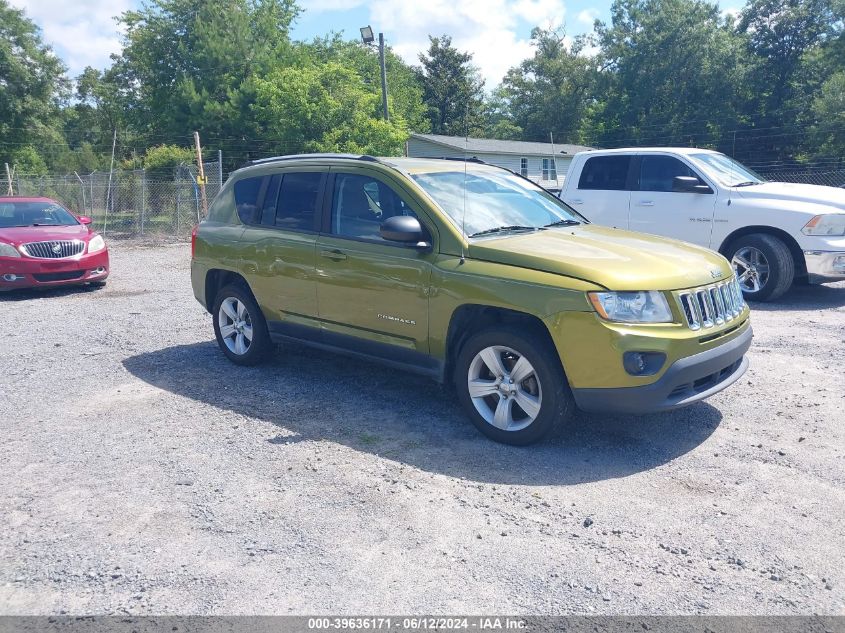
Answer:
<path fill-rule="evenodd" d="M 208 204 L 220 191 L 223 172 L 217 161 L 203 163 Z M 190 236 L 202 214 L 201 187 L 196 165 L 179 165 L 167 178 L 144 170 L 94 172 L 87 175 L 15 176 L 12 190 L 18 196 L 53 198 L 109 238 L 146 236 L 153 239 Z M 8 180 L 0 179 L 0 195 L 8 193 Z"/>

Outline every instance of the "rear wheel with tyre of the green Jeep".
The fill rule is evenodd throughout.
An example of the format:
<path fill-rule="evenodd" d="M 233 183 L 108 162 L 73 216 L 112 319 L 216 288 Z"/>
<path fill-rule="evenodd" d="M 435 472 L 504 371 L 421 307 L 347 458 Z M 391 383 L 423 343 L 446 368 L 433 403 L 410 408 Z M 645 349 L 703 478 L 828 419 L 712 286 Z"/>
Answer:
<path fill-rule="evenodd" d="M 214 335 L 226 357 L 238 365 L 257 365 L 272 348 L 267 322 L 249 290 L 231 284 L 217 293 L 212 311 Z"/>

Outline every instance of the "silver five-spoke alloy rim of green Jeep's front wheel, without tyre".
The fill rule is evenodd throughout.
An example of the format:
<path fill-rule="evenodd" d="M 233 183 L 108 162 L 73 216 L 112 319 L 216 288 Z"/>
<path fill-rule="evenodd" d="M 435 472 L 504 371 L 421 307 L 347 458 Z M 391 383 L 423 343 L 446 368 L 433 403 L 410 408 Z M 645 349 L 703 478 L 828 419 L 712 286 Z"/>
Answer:
<path fill-rule="evenodd" d="M 484 420 L 503 431 L 520 431 L 540 414 L 542 390 L 525 356 L 502 345 L 485 347 L 467 372 L 467 388 Z"/>

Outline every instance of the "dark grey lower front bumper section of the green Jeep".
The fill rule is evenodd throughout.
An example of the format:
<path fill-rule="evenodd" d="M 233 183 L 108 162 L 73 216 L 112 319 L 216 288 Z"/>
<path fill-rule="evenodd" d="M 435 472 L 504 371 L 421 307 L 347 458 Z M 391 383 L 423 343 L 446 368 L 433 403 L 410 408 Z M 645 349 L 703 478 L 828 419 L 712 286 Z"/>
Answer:
<path fill-rule="evenodd" d="M 639 387 L 572 389 L 584 411 L 653 413 L 709 398 L 733 384 L 748 369 L 745 353 L 753 337 L 749 326 L 740 336 L 705 352 L 675 361 L 659 380 Z"/>

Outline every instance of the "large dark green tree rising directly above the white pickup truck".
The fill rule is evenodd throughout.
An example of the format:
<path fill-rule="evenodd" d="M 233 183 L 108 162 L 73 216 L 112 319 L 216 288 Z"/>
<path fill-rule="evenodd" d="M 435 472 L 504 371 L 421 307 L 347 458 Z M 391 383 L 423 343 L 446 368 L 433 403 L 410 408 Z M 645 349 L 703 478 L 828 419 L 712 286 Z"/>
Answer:
<path fill-rule="evenodd" d="M 744 40 L 706 0 L 615 0 L 585 141 L 720 145 L 748 98 Z"/>

